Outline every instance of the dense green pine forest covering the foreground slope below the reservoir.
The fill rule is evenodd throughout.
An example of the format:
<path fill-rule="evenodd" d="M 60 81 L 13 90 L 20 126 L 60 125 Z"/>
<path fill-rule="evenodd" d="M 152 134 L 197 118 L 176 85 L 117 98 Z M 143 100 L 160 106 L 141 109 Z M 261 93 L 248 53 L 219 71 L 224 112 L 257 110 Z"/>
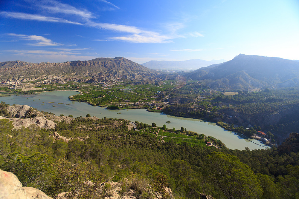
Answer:
<path fill-rule="evenodd" d="M 54 139 L 49 136 L 53 132 L 70 140 Z M 105 181 L 121 182 L 124 192 L 138 190 L 137 198 L 158 193 L 168 198 L 164 186 L 173 190 L 175 198 L 199 198 L 200 193 L 215 198 L 299 196 L 298 151 L 162 142 L 129 130 L 125 120 L 89 117 L 58 122 L 50 130 L 13 129 L 11 122 L 2 119 L 0 139 L 0 168 L 13 172 L 23 186 L 52 197 L 70 191 L 78 198 L 97 198 L 97 186 Z M 87 187 L 88 180 L 95 186 Z"/>

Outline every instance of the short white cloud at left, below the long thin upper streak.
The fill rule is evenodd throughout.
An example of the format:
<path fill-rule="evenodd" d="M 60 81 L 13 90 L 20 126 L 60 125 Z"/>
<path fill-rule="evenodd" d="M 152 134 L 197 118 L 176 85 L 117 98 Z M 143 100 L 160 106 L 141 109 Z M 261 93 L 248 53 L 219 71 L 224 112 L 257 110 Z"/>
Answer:
<path fill-rule="evenodd" d="M 15 33 L 7 33 L 7 35 L 19 38 L 21 40 L 37 41 L 37 43 L 29 44 L 32 46 L 61 46 L 63 44 L 55 43 L 51 39 L 37 35 L 20 35 Z"/>

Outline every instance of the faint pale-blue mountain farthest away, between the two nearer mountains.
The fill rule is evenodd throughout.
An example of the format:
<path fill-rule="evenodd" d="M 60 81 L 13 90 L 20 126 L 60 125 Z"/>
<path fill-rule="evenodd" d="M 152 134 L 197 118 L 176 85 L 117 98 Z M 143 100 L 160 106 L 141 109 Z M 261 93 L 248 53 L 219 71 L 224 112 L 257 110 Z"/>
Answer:
<path fill-rule="evenodd" d="M 190 59 L 186 61 L 148 61 L 141 65 L 154 70 L 196 70 L 201 67 L 207 67 L 212 64 L 219 64 L 223 62 L 225 62 L 224 59 L 212 61 Z"/>

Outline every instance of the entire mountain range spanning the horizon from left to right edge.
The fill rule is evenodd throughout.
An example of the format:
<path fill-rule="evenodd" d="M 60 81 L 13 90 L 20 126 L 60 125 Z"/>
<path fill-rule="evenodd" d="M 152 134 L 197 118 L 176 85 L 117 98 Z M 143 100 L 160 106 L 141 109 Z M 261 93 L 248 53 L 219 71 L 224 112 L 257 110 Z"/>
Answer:
<path fill-rule="evenodd" d="M 215 60 L 214 60 L 215 61 Z M 220 61 L 220 60 L 218 60 Z M 211 63 L 204 60 L 149 61 L 150 67 L 174 69 L 190 66 L 187 63 Z M 168 66 L 166 66 L 169 63 Z M 165 65 L 166 64 L 166 65 Z M 215 90 L 251 90 L 299 86 L 299 62 L 274 57 L 239 54 L 234 59 L 206 67 L 197 65 L 191 72 L 165 73 L 149 69 L 123 57 L 96 58 L 89 61 L 64 63 L 0 62 L 0 81 L 33 81 L 41 78 L 79 82 L 135 81 L 137 84 L 157 83 L 160 80 L 181 78 L 198 81 Z"/>

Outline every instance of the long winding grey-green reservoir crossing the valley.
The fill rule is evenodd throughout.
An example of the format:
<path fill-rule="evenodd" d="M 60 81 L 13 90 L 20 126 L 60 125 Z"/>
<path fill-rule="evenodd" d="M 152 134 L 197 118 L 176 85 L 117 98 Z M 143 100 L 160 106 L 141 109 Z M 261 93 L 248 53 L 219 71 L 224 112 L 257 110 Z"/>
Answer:
<path fill-rule="evenodd" d="M 243 150 L 246 146 L 251 150 L 269 147 L 254 139 L 244 139 L 234 132 L 222 129 L 213 122 L 148 112 L 146 109 L 109 110 L 106 107 L 93 107 L 85 102 L 71 101 L 68 99 L 69 96 L 77 94 L 79 94 L 79 92 L 76 91 L 50 91 L 41 92 L 38 95 L 11 95 L 0 97 L 0 101 L 10 105 L 26 104 L 39 111 L 52 112 L 57 116 L 63 114 L 65 116 L 73 115 L 74 117 L 85 117 L 86 114 L 89 113 L 91 116 L 98 118 L 123 118 L 132 122 L 139 121 L 150 125 L 155 122 L 159 127 L 166 124 L 166 121 L 170 121 L 170 124 L 166 124 L 169 129 L 173 127 L 175 129 L 181 129 L 181 127 L 184 127 L 187 128 L 187 130 L 199 134 L 213 136 L 221 140 L 230 149 Z M 119 112 L 121 114 L 117 114 Z"/>

